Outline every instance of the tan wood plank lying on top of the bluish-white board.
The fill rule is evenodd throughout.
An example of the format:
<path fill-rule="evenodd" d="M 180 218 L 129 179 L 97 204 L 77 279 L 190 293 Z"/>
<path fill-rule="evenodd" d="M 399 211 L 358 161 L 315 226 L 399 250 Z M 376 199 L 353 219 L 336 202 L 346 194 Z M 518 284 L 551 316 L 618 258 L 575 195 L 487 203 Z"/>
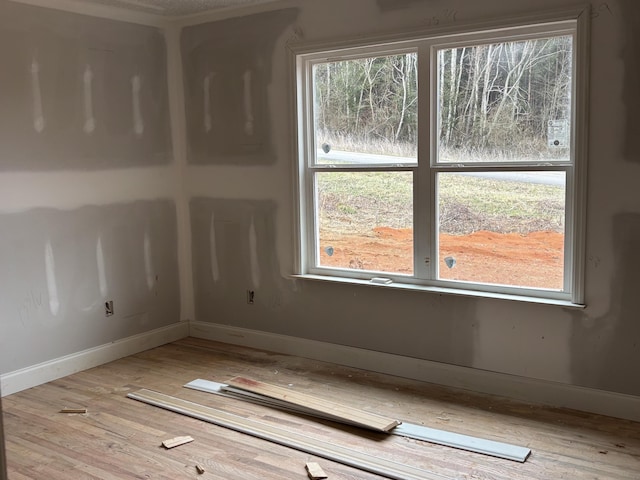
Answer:
<path fill-rule="evenodd" d="M 398 420 L 394 420 L 392 418 L 383 417 L 382 415 L 366 412 L 358 408 L 350 407 L 349 405 L 316 398 L 311 395 L 246 377 L 234 377 L 229 380 L 228 384 L 232 387 L 240 388 L 252 393 L 275 398 L 277 400 L 302 406 L 334 417 L 343 418 L 349 423 L 369 428 L 371 430 L 388 432 L 392 428 L 400 425 Z"/>

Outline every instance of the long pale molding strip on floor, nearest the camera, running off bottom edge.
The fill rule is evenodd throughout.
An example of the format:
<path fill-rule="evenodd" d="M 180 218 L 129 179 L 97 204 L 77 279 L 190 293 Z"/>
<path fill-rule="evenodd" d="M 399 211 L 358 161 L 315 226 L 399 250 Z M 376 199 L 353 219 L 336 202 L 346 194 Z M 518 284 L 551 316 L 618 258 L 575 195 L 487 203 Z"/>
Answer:
<path fill-rule="evenodd" d="M 427 470 L 367 455 L 357 450 L 323 442 L 306 435 L 300 435 L 152 390 L 138 390 L 129 393 L 127 397 L 394 480 L 446 479 L 442 475 Z"/>

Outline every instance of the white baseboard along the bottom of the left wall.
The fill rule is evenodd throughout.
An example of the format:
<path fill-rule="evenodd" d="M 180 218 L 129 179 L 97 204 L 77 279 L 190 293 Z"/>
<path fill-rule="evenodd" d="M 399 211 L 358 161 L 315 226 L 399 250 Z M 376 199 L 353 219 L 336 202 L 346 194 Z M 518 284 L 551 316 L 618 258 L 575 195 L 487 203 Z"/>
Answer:
<path fill-rule="evenodd" d="M 116 340 L 99 347 L 89 348 L 1 375 L 0 391 L 3 396 L 11 395 L 88 368 L 97 367 L 166 343 L 175 342 L 188 335 L 189 322 L 179 322 L 151 330 L 150 332 Z"/>

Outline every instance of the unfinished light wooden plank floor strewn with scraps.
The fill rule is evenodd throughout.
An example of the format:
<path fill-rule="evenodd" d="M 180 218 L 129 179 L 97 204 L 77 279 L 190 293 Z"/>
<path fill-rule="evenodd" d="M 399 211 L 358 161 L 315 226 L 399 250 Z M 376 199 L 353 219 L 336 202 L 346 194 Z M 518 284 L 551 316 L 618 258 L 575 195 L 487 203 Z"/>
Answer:
<path fill-rule="evenodd" d="M 236 375 L 412 423 L 527 446 L 532 454 L 521 464 L 182 387 L 196 378 L 224 382 Z M 5 397 L 9 480 L 306 479 L 308 461 L 320 463 L 330 480 L 382 478 L 126 398 L 140 388 L 451 479 L 640 478 L 640 423 L 188 338 Z M 64 407 L 88 412 L 59 413 Z M 195 441 L 171 450 L 160 445 L 182 435 Z"/>

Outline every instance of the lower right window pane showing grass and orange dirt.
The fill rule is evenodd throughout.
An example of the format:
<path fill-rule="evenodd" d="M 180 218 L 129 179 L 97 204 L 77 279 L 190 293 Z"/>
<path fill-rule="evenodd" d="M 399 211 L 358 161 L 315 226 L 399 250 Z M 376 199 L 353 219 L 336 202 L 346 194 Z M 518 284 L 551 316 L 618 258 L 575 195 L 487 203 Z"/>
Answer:
<path fill-rule="evenodd" d="M 565 173 L 439 173 L 438 277 L 563 289 Z"/>

